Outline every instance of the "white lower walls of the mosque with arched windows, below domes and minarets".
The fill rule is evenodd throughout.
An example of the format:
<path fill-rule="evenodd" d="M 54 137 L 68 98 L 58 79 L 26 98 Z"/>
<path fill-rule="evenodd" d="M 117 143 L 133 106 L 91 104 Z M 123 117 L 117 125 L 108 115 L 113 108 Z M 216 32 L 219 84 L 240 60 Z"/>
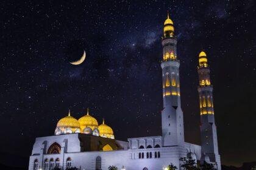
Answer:
<path fill-rule="evenodd" d="M 201 146 L 183 143 L 180 146 L 163 147 L 161 136 L 129 138 L 129 143 L 117 141 L 124 149 L 116 151 L 80 152 L 78 135 L 66 134 L 37 138 L 30 156 L 29 170 L 53 169 L 56 165 L 63 169 L 68 168 L 68 166 L 76 166 L 79 169 L 96 169 L 97 164 L 99 164 L 99 161 L 96 161 L 97 157 L 101 158 L 99 168 L 104 170 L 112 165 L 119 169 L 124 166 L 124 168 L 131 170 L 163 169 L 170 163 L 179 168 L 180 157 L 194 155 L 196 160 L 201 159 Z M 60 154 L 47 154 L 53 143 L 60 144 Z M 140 146 L 143 146 L 144 149 L 139 149 Z"/>

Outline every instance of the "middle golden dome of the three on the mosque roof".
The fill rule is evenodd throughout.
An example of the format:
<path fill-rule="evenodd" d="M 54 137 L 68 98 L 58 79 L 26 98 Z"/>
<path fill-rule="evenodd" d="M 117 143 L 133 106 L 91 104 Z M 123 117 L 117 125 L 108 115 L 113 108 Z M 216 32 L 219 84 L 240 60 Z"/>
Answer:
<path fill-rule="evenodd" d="M 91 129 L 94 129 L 95 127 L 98 127 L 98 121 L 89 115 L 89 109 L 87 109 L 87 115 L 84 115 L 83 117 L 79 118 L 79 124 L 80 129 L 83 132 L 85 127 L 90 127 Z"/>

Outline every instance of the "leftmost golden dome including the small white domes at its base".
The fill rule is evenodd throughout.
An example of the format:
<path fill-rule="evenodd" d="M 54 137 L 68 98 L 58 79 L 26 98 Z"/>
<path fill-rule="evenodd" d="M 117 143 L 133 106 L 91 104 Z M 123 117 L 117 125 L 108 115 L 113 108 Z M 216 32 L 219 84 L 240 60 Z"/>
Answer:
<path fill-rule="evenodd" d="M 57 134 L 71 134 L 75 132 L 80 132 L 80 124 L 76 120 L 76 118 L 71 117 L 69 110 L 68 116 L 61 118 L 58 121 L 56 130 L 59 131 L 57 132 Z"/>

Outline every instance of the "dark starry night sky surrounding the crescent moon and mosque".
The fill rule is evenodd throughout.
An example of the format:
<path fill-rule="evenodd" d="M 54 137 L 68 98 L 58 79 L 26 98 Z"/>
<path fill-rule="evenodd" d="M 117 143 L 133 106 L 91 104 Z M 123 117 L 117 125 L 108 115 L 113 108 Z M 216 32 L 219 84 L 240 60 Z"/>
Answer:
<path fill-rule="evenodd" d="M 0 163 L 27 166 L 36 137 L 90 108 L 118 140 L 161 135 L 167 10 L 180 60 L 185 140 L 200 144 L 197 59 L 214 87 L 222 164 L 256 160 L 256 2 L 3 1 Z M 79 66 L 69 64 L 87 52 Z M 16 160 L 16 161 L 13 161 Z"/>

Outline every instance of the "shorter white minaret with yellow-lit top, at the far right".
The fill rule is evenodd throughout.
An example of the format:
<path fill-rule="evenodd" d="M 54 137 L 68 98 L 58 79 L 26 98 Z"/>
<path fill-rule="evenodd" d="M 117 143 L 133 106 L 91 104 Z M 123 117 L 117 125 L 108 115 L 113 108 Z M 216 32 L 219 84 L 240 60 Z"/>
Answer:
<path fill-rule="evenodd" d="M 218 151 L 218 139 L 213 110 L 213 86 L 210 81 L 210 67 L 207 63 L 205 52 L 199 53 L 199 103 L 201 114 L 201 146 L 202 158 L 208 156 L 210 161 L 216 163 L 221 169 L 221 161 Z M 202 160 L 204 161 L 204 160 Z"/>

